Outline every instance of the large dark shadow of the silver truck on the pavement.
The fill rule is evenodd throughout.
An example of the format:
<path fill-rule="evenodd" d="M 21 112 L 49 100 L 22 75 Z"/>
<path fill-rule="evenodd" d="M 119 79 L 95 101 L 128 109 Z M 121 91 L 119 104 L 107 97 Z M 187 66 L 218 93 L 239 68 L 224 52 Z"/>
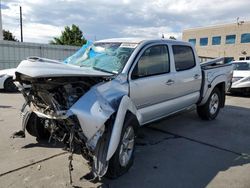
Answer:
<path fill-rule="evenodd" d="M 141 128 L 144 144 L 137 144 L 132 168 L 118 179 L 104 179 L 100 187 L 206 187 L 219 173 L 232 167 L 241 168 L 242 165 L 249 164 L 249 155 L 241 153 L 250 153 L 250 126 L 245 122 L 233 122 L 235 117 L 232 114 L 235 110 L 242 114 L 241 118 L 245 118 L 245 122 L 250 121 L 250 109 L 227 106 L 223 117 L 230 117 L 223 125 L 223 117 L 204 122 L 199 120 L 194 112 L 190 112 L 163 120 L 159 125 L 151 124 L 152 127 L 164 130 L 165 133 L 156 132 L 150 127 Z M 186 127 L 190 131 L 187 131 Z M 221 134 L 221 140 L 217 136 L 213 137 L 213 133 Z M 213 142 L 210 142 L 211 140 Z M 235 148 L 238 148 L 238 145 L 241 147 L 237 151 Z M 238 181 L 238 185 L 241 185 L 236 177 L 232 175 L 232 178 Z M 225 182 L 224 185 L 229 184 Z"/>

